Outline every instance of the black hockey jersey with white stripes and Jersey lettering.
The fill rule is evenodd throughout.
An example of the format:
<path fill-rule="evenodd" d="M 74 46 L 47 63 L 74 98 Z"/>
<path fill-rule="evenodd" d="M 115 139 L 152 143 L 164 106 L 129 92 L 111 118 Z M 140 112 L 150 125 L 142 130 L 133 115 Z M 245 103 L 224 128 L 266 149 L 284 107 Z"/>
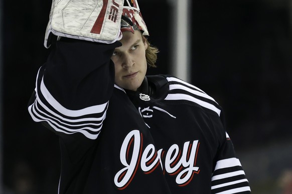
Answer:
<path fill-rule="evenodd" d="M 116 46 L 63 38 L 38 72 L 29 112 L 60 137 L 59 193 L 249 193 L 213 98 L 166 75 L 125 91 Z"/>

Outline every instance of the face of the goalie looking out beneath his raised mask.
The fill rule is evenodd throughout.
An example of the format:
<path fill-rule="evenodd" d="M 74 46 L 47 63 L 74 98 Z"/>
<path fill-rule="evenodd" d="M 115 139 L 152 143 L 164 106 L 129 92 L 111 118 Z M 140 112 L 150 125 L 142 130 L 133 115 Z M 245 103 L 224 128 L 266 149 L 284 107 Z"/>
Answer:
<path fill-rule="evenodd" d="M 138 30 L 134 33 L 124 31 L 122 34 L 122 46 L 116 47 L 111 57 L 114 62 L 115 83 L 136 91 L 147 71 L 145 50 L 148 44 Z"/>

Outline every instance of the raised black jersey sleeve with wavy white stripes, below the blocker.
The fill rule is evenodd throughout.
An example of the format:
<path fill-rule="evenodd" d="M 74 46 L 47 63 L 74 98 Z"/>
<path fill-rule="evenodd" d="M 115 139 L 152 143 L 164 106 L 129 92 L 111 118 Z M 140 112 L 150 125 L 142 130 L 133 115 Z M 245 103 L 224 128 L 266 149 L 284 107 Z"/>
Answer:
<path fill-rule="evenodd" d="M 57 134 L 96 139 L 114 87 L 110 57 L 120 43 L 62 38 L 40 67 L 29 113 Z"/>

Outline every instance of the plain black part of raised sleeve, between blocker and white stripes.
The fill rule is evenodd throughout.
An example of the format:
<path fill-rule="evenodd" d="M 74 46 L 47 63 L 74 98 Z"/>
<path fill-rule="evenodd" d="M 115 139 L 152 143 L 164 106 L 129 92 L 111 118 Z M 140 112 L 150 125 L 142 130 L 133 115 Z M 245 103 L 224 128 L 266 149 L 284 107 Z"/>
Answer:
<path fill-rule="evenodd" d="M 57 42 L 45 63 L 44 84 L 58 102 L 70 109 L 108 101 L 114 84 L 110 56 L 117 44 Z"/>

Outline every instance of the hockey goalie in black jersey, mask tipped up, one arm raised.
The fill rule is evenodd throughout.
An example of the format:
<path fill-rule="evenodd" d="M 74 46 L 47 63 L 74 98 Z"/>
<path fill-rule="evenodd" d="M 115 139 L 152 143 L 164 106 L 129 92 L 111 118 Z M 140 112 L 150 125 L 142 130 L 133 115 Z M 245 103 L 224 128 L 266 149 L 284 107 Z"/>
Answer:
<path fill-rule="evenodd" d="M 59 193 L 250 193 L 214 99 L 145 77 L 157 49 L 126 4 L 53 1 L 29 112 L 60 137 Z"/>

